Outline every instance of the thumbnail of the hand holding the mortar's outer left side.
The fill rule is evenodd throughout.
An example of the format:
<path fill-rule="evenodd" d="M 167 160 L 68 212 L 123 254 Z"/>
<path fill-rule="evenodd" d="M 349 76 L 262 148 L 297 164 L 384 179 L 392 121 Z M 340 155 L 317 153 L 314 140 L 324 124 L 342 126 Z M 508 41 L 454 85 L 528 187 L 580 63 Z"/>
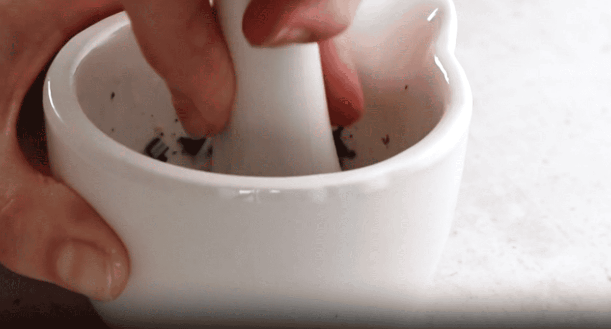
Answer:
<path fill-rule="evenodd" d="M 117 298 L 127 278 L 127 261 L 116 250 L 110 255 L 89 244 L 65 242 L 57 257 L 57 275 L 72 289 L 96 300 Z"/>

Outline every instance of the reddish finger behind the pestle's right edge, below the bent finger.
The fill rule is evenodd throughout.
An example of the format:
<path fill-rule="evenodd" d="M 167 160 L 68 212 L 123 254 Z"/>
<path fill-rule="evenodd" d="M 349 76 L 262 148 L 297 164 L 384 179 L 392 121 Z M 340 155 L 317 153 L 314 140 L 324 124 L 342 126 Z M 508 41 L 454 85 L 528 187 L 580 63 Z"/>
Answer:
<path fill-rule="evenodd" d="M 346 33 L 319 43 L 329 117 L 334 126 L 353 124 L 362 117 L 365 107 L 350 43 Z"/>

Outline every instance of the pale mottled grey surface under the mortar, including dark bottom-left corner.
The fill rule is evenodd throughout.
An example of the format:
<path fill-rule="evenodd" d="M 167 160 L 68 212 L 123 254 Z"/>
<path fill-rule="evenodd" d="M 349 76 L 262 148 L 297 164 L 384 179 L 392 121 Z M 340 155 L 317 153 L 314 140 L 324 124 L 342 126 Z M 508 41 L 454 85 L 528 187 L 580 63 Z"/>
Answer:
<path fill-rule="evenodd" d="M 611 325 L 611 2 L 455 3 L 474 115 L 417 322 Z M 18 314 L 100 324 L 86 299 L 0 267 L 0 320 Z"/>

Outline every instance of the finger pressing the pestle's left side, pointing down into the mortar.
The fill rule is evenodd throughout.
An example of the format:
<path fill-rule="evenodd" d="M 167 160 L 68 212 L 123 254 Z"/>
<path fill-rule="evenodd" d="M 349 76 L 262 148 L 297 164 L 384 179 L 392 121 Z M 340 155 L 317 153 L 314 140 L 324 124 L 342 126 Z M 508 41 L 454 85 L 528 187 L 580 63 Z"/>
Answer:
<path fill-rule="evenodd" d="M 148 63 L 169 85 L 185 131 L 213 136 L 229 121 L 235 77 L 218 19 L 203 0 L 122 0 Z"/>

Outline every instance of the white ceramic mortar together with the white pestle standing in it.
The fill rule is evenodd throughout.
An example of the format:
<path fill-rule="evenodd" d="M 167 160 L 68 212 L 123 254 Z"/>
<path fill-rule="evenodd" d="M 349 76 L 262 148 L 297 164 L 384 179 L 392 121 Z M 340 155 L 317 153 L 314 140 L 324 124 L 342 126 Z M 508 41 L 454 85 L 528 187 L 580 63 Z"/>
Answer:
<path fill-rule="evenodd" d="M 220 3 L 226 36 L 242 2 Z M 363 0 L 346 33 L 365 96 L 357 123 L 329 124 L 315 44 L 240 50 L 233 35 L 234 112 L 207 140 L 185 134 L 125 13 L 57 54 L 43 90 L 51 170 L 130 253 L 123 293 L 92 301 L 108 324 L 408 320 L 463 171 L 472 99 L 456 13 L 450 0 Z M 261 67 L 282 72 L 266 77 L 277 88 L 252 84 L 266 72 L 249 66 L 255 50 L 276 56 Z M 278 74 L 291 81 L 282 97 Z"/>

